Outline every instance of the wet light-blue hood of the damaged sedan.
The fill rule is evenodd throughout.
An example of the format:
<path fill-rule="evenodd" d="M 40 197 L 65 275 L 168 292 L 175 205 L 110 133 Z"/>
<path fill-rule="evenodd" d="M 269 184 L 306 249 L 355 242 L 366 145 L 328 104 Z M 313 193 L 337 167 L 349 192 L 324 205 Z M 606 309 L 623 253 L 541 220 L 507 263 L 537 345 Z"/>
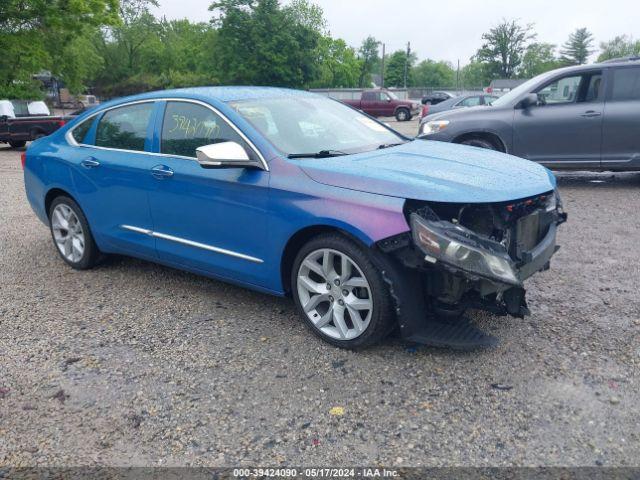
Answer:
<path fill-rule="evenodd" d="M 548 192 L 556 185 L 554 175 L 537 163 L 429 140 L 355 155 L 291 161 L 325 185 L 433 202 L 504 202 Z"/>

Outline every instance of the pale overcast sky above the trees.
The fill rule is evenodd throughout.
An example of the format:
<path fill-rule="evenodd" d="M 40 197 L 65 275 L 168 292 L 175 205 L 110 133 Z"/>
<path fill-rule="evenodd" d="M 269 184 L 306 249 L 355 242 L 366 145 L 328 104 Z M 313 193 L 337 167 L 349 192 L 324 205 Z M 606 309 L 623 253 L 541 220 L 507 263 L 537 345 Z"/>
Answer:
<path fill-rule="evenodd" d="M 158 12 L 168 18 L 208 21 L 209 0 L 160 0 Z M 328 28 L 352 46 L 367 35 L 406 48 L 419 58 L 468 62 L 483 32 L 502 18 L 535 24 L 538 39 L 561 45 L 569 33 L 587 27 L 596 44 L 615 35 L 640 37 L 638 0 L 316 0 L 324 9 Z"/>

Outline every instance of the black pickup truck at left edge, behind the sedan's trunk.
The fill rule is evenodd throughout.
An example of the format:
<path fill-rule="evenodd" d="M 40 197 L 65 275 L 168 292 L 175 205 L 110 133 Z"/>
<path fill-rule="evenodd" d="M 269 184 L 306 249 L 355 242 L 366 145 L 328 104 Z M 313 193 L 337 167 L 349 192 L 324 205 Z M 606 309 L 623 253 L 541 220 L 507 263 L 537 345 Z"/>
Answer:
<path fill-rule="evenodd" d="M 0 100 L 0 143 L 8 143 L 13 148 L 45 137 L 66 122 L 66 117 L 51 116 L 44 102 Z"/>

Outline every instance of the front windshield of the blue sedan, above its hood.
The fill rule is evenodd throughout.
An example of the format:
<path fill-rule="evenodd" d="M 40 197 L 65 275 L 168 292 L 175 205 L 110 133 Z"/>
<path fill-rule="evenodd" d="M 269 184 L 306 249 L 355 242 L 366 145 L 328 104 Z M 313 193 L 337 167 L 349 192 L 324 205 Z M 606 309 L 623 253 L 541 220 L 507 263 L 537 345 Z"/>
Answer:
<path fill-rule="evenodd" d="M 319 95 L 243 100 L 229 105 L 288 155 L 359 153 L 405 141 L 362 113 Z"/>

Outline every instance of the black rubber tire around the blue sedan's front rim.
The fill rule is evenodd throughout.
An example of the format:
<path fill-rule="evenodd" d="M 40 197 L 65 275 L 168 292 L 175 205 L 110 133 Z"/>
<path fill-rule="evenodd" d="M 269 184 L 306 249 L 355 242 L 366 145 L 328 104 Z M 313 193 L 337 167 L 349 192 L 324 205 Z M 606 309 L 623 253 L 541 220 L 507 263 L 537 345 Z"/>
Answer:
<path fill-rule="evenodd" d="M 298 295 L 298 274 L 304 259 L 316 250 L 331 249 L 350 257 L 361 270 L 369 283 L 371 297 L 373 300 L 373 311 L 371 320 L 363 333 L 350 340 L 340 340 L 323 333 L 309 319 L 304 311 Z M 336 347 L 357 350 L 369 347 L 380 342 L 396 326 L 396 318 L 393 309 L 393 300 L 388 284 L 384 281 L 381 271 L 375 266 L 372 254 L 365 247 L 360 246 L 355 241 L 339 233 L 329 233 L 319 235 L 298 252 L 291 271 L 291 292 L 298 313 L 307 326 L 325 342 Z"/>

